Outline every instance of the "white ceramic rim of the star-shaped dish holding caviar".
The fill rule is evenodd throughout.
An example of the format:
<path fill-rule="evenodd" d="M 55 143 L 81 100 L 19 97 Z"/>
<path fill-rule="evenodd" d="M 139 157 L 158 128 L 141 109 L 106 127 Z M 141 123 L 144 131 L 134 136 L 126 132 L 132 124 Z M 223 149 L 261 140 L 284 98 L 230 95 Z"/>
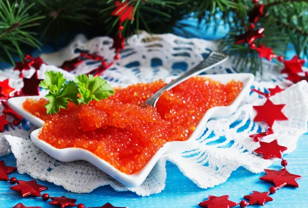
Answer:
<path fill-rule="evenodd" d="M 204 124 L 210 118 L 221 118 L 221 117 L 228 117 L 232 115 L 235 110 L 238 108 L 241 100 L 247 95 L 250 91 L 250 87 L 254 80 L 253 74 L 248 73 L 238 73 L 238 74 L 217 74 L 217 75 L 202 75 L 208 78 L 219 80 L 223 84 L 226 82 L 235 79 L 240 80 L 244 84 L 244 88 L 238 95 L 238 97 L 234 100 L 234 102 L 226 107 L 215 107 L 209 109 L 201 121 L 199 122 L 196 130 L 190 135 L 187 141 L 172 141 L 167 142 L 164 147 L 162 147 L 158 152 L 148 161 L 143 169 L 139 172 L 134 173 L 132 175 L 127 175 L 120 172 L 118 169 L 115 169 L 111 164 L 106 162 L 105 160 L 99 158 L 98 156 L 94 155 L 93 153 L 81 149 L 81 148 L 66 148 L 66 149 L 56 149 L 52 147 L 52 145 L 48 144 L 47 142 L 38 139 L 38 133 L 41 131 L 42 128 L 37 129 L 31 133 L 31 140 L 33 143 L 48 155 L 54 157 L 57 160 L 63 162 L 71 162 L 76 160 L 85 160 L 92 163 L 95 167 L 99 168 L 109 176 L 113 177 L 115 180 L 118 180 L 122 184 L 128 187 L 137 187 L 143 183 L 146 177 L 149 175 L 150 171 L 153 169 L 157 161 L 161 158 L 161 156 L 165 153 L 181 153 L 187 149 L 191 142 L 198 139 L 200 133 L 202 133 L 202 128 Z M 166 82 L 171 81 L 176 77 L 167 77 Z M 41 96 L 28 96 L 28 97 L 15 97 L 9 99 L 8 103 L 9 106 L 15 110 L 17 113 L 20 113 L 25 119 L 32 122 L 37 127 L 42 127 L 44 121 L 33 116 L 32 114 L 26 112 L 22 108 L 22 103 L 25 101 L 26 98 L 32 99 L 39 99 Z"/>

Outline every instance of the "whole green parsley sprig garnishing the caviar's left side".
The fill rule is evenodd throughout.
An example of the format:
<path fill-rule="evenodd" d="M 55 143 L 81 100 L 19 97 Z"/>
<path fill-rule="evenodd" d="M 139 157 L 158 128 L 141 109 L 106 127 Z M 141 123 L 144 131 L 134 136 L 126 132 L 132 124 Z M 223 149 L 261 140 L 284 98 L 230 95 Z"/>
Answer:
<path fill-rule="evenodd" d="M 61 72 L 54 71 L 46 72 L 45 79 L 39 86 L 49 90 L 45 96 L 49 100 L 45 105 L 47 114 L 59 113 L 61 108 L 66 109 L 69 101 L 76 105 L 88 104 L 91 100 L 106 99 L 114 93 L 102 77 L 82 74 L 76 77 L 76 81 L 67 81 Z"/>

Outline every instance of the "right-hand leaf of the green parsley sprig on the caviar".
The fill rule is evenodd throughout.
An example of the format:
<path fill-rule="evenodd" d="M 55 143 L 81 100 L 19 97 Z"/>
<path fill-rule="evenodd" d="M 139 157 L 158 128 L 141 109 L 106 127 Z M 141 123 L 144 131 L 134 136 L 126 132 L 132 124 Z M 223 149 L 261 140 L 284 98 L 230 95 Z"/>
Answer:
<path fill-rule="evenodd" d="M 84 74 L 76 77 L 76 84 L 79 88 L 81 97 L 79 103 L 88 104 L 91 100 L 106 99 L 109 95 L 113 95 L 114 91 L 111 86 L 102 77 L 86 76 Z"/>

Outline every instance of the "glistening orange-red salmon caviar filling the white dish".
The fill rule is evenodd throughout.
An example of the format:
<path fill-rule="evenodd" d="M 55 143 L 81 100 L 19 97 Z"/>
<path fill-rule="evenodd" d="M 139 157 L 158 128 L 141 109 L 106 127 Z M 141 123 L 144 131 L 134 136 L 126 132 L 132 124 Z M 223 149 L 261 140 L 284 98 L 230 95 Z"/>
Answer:
<path fill-rule="evenodd" d="M 141 170 L 167 141 L 185 141 L 205 112 L 228 106 L 243 84 L 226 85 L 202 76 L 190 78 L 165 91 L 156 108 L 141 107 L 165 82 L 131 85 L 89 105 L 69 103 L 59 114 L 47 115 L 45 99 L 27 99 L 25 110 L 45 121 L 38 135 L 55 148 L 88 150 L 125 174 Z"/>

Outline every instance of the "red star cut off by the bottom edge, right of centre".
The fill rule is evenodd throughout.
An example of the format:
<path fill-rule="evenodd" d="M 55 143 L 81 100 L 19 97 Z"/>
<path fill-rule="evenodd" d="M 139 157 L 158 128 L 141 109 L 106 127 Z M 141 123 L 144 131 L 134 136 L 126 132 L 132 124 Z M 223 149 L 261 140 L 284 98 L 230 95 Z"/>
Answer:
<path fill-rule="evenodd" d="M 230 208 L 237 205 L 236 202 L 230 201 L 229 195 L 225 196 L 208 196 L 208 199 L 199 203 L 199 206 L 206 208 Z"/>

